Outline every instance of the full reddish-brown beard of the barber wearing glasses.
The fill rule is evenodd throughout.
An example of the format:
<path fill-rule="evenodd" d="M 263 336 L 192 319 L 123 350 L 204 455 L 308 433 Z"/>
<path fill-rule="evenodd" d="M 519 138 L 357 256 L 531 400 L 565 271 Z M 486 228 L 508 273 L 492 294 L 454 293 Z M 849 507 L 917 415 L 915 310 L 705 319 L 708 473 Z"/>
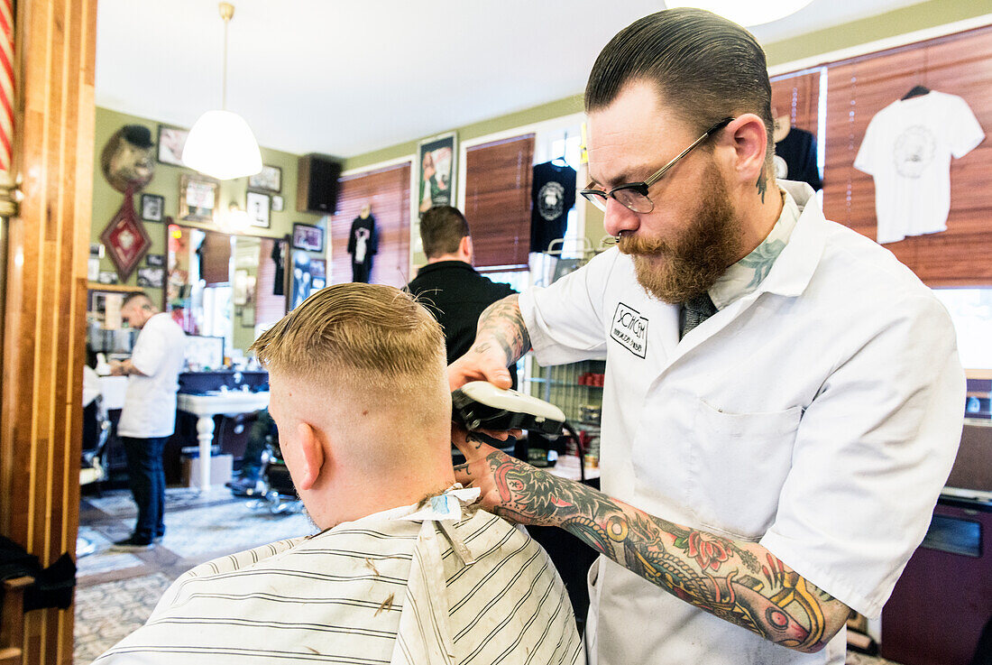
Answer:
<path fill-rule="evenodd" d="M 702 180 L 696 209 L 674 240 L 622 235 L 617 243 L 633 256 L 637 281 L 665 303 L 707 291 L 739 254 L 739 229 L 719 171 L 710 165 Z"/>

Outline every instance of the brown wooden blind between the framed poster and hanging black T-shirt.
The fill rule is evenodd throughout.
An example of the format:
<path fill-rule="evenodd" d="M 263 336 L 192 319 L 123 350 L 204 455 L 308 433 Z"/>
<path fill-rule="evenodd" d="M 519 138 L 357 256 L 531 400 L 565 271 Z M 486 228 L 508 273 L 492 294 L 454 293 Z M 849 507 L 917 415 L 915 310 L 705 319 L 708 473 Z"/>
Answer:
<path fill-rule="evenodd" d="M 466 150 L 463 211 L 477 268 L 528 269 L 533 169 L 534 134 Z"/>

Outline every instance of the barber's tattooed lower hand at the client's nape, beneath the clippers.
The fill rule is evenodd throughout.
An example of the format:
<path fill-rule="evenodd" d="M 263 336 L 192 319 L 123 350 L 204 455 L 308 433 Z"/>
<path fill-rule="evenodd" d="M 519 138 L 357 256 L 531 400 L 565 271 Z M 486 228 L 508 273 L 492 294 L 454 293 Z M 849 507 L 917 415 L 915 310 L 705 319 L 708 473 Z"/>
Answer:
<path fill-rule="evenodd" d="M 454 467 L 454 479 L 482 490 L 483 510 L 521 524 L 551 524 L 529 503 L 547 503 L 543 488 L 550 489 L 548 480 L 554 476 L 511 458 L 460 427 L 451 428 L 451 443 L 465 456 L 465 464 Z"/>

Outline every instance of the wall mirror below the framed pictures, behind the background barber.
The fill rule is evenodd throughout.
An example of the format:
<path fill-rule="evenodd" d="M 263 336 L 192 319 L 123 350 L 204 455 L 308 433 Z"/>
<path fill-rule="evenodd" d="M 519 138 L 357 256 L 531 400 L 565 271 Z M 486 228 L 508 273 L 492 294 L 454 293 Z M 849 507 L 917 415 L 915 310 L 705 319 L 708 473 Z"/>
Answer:
<path fill-rule="evenodd" d="M 187 334 L 222 337 L 245 355 L 287 312 L 289 242 L 168 224 L 166 307 Z"/>

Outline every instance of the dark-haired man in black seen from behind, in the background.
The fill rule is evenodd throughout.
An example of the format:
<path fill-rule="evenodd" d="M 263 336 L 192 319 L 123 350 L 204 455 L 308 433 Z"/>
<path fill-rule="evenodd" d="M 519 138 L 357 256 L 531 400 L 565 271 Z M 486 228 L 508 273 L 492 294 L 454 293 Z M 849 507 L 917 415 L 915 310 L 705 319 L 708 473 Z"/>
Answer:
<path fill-rule="evenodd" d="M 450 363 L 472 345 L 482 311 L 517 292 L 472 268 L 472 237 L 458 208 L 435 205 L 425 212 L 421 216 L 421 240 L 428 264 L 407 290 L 440 324 Z M 516 377 L 511 378 L 516 386 Z"/>

